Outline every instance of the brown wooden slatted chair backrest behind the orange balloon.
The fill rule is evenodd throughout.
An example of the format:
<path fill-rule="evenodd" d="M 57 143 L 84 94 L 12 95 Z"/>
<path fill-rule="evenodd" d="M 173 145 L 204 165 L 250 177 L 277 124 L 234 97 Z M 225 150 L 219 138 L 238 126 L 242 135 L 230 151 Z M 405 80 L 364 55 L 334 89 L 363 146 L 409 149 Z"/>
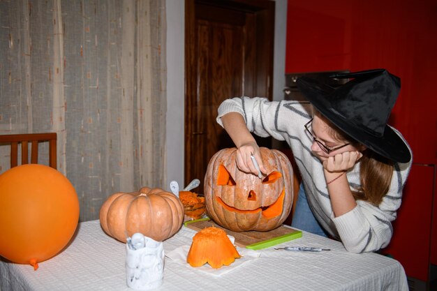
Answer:
<path fill-rule="evenodd" d="M 31 143 L 31 164 L 38 163 L 38 144 L 49 142 L 49 164 L 57 168 L 57 134 L 26 133 L 19 135 L 0 135 L 0 144 L 10 144 L 10 167 L 18 165 L 18 144 L 21 144 L 21 164 L 29 163 L 29 142 Z"/>

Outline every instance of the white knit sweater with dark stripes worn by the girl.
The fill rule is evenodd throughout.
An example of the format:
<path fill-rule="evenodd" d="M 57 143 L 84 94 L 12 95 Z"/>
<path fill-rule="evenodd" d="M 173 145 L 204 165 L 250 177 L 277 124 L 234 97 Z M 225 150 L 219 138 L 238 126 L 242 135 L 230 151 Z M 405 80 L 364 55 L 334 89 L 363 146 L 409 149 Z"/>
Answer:
<path fill-rule="evenodd" d="M 340 239 L 346 250 L 353 253 L 378 251 L 389 244 L 393 234 L 391 222 L 401 206 L 402 189 L 411 161 L 394 163 L 390 189 L 378 207 L 358 200 L 353 210 L 334 217 L 323 165 L 311 154 L 313 140 L 304 130 L 304 124 L 311 119 L 310 103 L 287 100 L 270 102 L 267 98 L 247 97 L 228 99 L 218 108 L 217 122 L 221 126 L 221 117 L 228 112 L 242 114 L 251 133 L 261 137 L 272 136 L 288 143 L 302 174 L 309 207 L 320 225 L 332 237 Z M 348 171 L 347 177 L 351 189 L 360 186 L 359 163 Z"/>

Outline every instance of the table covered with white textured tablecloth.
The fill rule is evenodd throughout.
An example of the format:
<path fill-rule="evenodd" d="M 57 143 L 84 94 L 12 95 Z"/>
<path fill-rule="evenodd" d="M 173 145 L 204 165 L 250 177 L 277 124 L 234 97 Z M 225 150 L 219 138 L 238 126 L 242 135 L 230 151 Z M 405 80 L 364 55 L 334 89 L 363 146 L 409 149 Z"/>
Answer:
<path fill-rule="evenodd" d="M 164 252 L 184 244 L 193 230 L 183 226 L 164 241 Z M 260 257 L 222 276 L 212 276 L 165 258 L 158 290 L 408 290 L 397 260 L 377 253 L 348 253 L 339 241 L 303 232 L 279 246 L 318 246 L 320 253 L 265 248 Z M 131 290 L 126 285 L 125 244 L 109 237 L 99 221 L 79 223 L 71 244 L 39 269 L 0 261 L 0 287 L 7 290 Z"/>

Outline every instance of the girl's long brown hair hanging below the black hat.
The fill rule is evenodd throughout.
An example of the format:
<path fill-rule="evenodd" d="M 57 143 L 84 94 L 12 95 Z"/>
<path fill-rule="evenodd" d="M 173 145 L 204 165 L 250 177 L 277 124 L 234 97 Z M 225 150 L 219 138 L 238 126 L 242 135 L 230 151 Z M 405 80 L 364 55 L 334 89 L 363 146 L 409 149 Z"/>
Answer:
<path fill-rule="evenodd" d="M 356 148 L 362 147 L 360 142 L 354 140 L 352 137 L 337 128 L 331 121 L 327 120 L 323 115 L 315 112 L 318 117 L 323 119 L 329 125 L 329 134 L 336 140 L 348 142 Z M 388 158 L 380 156 L 371 149 L 364 149 L 362 151 L 362 158 L 360 159 L 360 188 L 352 191 L 355 200 L 368 201 L 373 205 L 378 206 L 383 197 L 390 188 L 390 182 L 393 175 L 393 162 Z"/>

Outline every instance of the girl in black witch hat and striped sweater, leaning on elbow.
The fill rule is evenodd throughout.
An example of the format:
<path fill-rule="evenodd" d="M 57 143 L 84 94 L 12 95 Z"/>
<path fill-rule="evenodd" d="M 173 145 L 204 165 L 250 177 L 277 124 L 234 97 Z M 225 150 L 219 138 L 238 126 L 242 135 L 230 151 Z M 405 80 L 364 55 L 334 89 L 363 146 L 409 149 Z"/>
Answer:
<path fill-rule="evenodd" d="M 218 108 L 217 121 L 237 146 L 237 166 L 244 172 L 258 175 L 253 154 L 262 174 L 269 174 L 251 132 L 285 140 L 323 230 L 350 252 L 378 251 L 392 237 L 412 163 L 408 144 L 387 125 L 400 80 L 385 69 L 332 77 L 353 80 L 332 88 L 299 78 L 297 86 L 309 102 L 228 99 Z"/>

